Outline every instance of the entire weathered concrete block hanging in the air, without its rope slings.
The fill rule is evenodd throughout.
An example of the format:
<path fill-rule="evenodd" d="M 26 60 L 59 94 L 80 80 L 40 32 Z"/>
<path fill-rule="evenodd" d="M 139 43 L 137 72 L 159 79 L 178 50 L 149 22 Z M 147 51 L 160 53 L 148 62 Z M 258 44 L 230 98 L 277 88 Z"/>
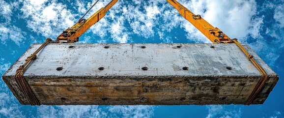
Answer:
<path fill-rule="evenodd" d="M 39 46 L 2 76 L 21 104 L 14 75 Z M 262 104 L 279 77 L 244 46 L 269 75 Z M 24 76 L 45 105 L 205 105 L 245 104 L 261 75 L 235 44 L 49 44 Z"/>

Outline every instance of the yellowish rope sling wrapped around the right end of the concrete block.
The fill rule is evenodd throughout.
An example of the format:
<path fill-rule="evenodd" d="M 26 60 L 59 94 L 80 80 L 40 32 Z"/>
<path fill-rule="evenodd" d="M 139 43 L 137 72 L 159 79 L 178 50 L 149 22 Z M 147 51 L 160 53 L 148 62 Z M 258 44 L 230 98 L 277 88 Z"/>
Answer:
<path fill-rule="evenodd" d="M 261 73 L 261 77 L 260 77 L 259 81 L 257 82 L 255 89 L 253 90 L 253 92 L 251 93 L 251 95 L 249 96 L 249 98 L 248 98 L 248 100 L 245 104 L 245 105 L 250 105 L 250 104 L 252 104 L 256 95 L 262 89 L 264 83 L 268 79 L 268 75 L 264 71 L 264 69 L 256 62 L 256 60 L 254 59 L 254 56 L 249 54 L 248 51 L 241 45 L 241 43 L 239 43 L 237 40 L 234 40 L 234 39 L 232 39 L 232 41 L 235 44 L 237 44 L 237 46 L 246 54 L 246 56 L 248 57 L 248 60 L 252 61 L 252 63 L 256 66 L 256 69 Z"/>

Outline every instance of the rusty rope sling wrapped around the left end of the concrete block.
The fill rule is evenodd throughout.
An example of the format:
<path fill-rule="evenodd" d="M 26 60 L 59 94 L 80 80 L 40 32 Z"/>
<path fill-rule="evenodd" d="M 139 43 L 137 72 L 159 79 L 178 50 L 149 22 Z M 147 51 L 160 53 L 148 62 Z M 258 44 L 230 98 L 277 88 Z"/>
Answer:
<path fill-rule="evenodd" d="M 38 101 L 32 89 L 28 85 L 28 81 L 24 77 L 24 72 L 27 70 L 32 60 L 36 59 L 36 54 L 41 49 L 43 49 L 47 44 L 51 43 L 51 41 L 52 39 L 47 38 L 46 41 L 33 54 L 31 54 L 30 56 L 28 56 L 27 59 L 25 59 L 26 62 L 16 70 L 15 74 L 16 83 L 18 85 L 18 88 L 21 90 L 21 92 L 24 93 L 24 95 L 28 99 L 30 105 L 40 105 L 40 102 Z"/>

